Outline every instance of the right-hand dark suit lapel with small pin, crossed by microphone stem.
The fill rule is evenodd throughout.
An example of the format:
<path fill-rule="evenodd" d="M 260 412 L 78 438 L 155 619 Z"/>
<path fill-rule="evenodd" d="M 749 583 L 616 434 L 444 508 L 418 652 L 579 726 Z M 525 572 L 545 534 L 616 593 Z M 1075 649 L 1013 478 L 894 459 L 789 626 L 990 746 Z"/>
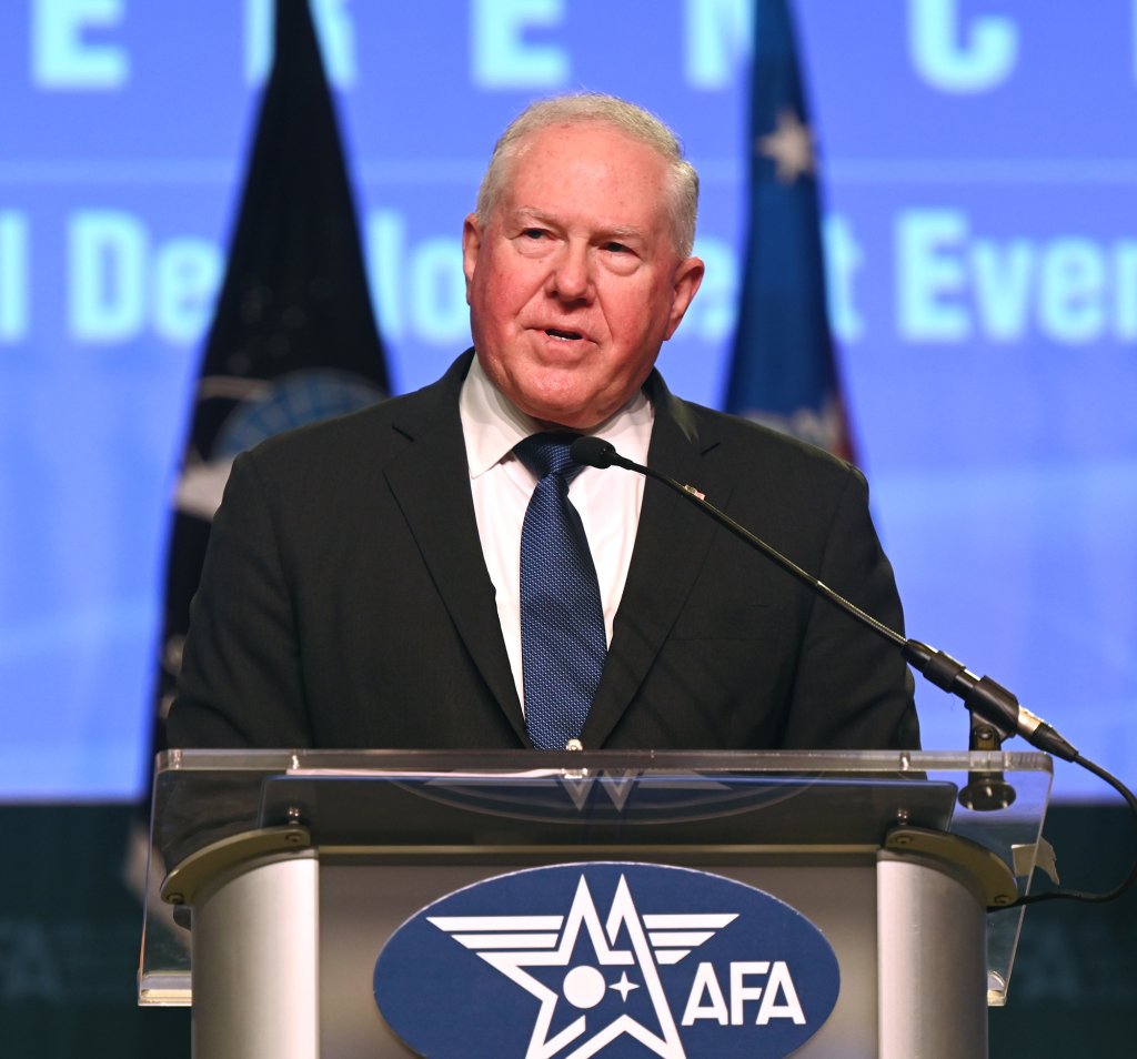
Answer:
<path fill-rule="evenodd" d="M 672 397 L 658 374 L 653 373 L 647 390 L 655 407 L 648 464 L 724 506 L 732 483 L 713 470 L 724 461 L 704 459 L 717 448 L 717 434 L 691 406 Z M 698 576 L 715 530 L 714 522 L 692 505 L 648 480 L 608 659 L 581 733 L 587 748 L 603 747 L 636 697 Z"/>

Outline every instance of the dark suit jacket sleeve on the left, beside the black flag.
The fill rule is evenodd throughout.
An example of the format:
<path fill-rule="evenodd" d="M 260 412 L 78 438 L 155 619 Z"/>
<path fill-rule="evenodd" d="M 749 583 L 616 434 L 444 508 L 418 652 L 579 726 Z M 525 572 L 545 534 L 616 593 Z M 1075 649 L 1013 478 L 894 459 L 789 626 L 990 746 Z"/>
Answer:
<path fill-rule="evenodd" d="M 190 608 L 171 747 L 310 745 L 296 619 L 269 490 L 239 456 Z"/>

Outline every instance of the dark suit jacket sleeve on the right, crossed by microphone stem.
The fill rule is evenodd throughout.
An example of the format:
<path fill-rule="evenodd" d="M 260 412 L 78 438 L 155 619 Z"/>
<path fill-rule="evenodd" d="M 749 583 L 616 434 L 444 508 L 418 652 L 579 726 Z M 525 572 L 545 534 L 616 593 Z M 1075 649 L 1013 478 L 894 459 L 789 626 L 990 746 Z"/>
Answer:
<path fill-rule="evenodd" d="M 891 564 L 850 470 L 832 510 L 819 578 L 903 632 Z M 811 607 L 785 733 L 788 748 L 918 749 L 913 679 L 899 649 L 818 597 Z"/>

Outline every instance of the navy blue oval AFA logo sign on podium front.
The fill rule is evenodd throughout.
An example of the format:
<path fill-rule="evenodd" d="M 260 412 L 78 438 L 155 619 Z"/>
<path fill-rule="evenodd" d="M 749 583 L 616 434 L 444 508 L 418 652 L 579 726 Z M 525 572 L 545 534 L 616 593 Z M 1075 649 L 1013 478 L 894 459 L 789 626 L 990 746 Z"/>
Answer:
<path fill-rule="evenodd" d="M 435 901 L 375 964 L 388 1025 L 432 1059 L 780 1057 L 837 1003 L 803 915 L 719 875 L 532 868 Z"/>

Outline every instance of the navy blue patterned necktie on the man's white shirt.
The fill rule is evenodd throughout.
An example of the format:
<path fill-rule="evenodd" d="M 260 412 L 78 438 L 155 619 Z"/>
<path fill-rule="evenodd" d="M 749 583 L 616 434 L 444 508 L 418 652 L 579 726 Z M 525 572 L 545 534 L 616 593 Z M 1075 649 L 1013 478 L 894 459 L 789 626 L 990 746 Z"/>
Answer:
<path fill-rule="evenodd" d="M 540 481 L 521 530 L 521 661 L 533 745 L 564 750 L 580 736 L 600 683 L 607 640 L 600 586 L 568 483 L 579 434 L 532 434 L 514 452 Z"/>

